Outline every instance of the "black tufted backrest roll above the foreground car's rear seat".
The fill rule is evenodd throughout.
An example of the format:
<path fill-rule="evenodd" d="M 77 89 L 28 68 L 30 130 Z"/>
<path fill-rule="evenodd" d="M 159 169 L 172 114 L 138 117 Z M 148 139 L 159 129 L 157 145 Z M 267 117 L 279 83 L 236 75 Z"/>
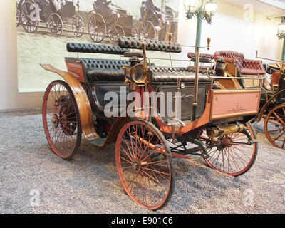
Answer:
<path fill-rule="evenodd" d="M 81 53 L 103 53 L 123 55 L 125 52 L 130 51 L 129 48 L 120 48 L 118 46 L 85 44 L 85 43 L 67 43 L 66 50 L 68 52 L 81 52 Z"/>

